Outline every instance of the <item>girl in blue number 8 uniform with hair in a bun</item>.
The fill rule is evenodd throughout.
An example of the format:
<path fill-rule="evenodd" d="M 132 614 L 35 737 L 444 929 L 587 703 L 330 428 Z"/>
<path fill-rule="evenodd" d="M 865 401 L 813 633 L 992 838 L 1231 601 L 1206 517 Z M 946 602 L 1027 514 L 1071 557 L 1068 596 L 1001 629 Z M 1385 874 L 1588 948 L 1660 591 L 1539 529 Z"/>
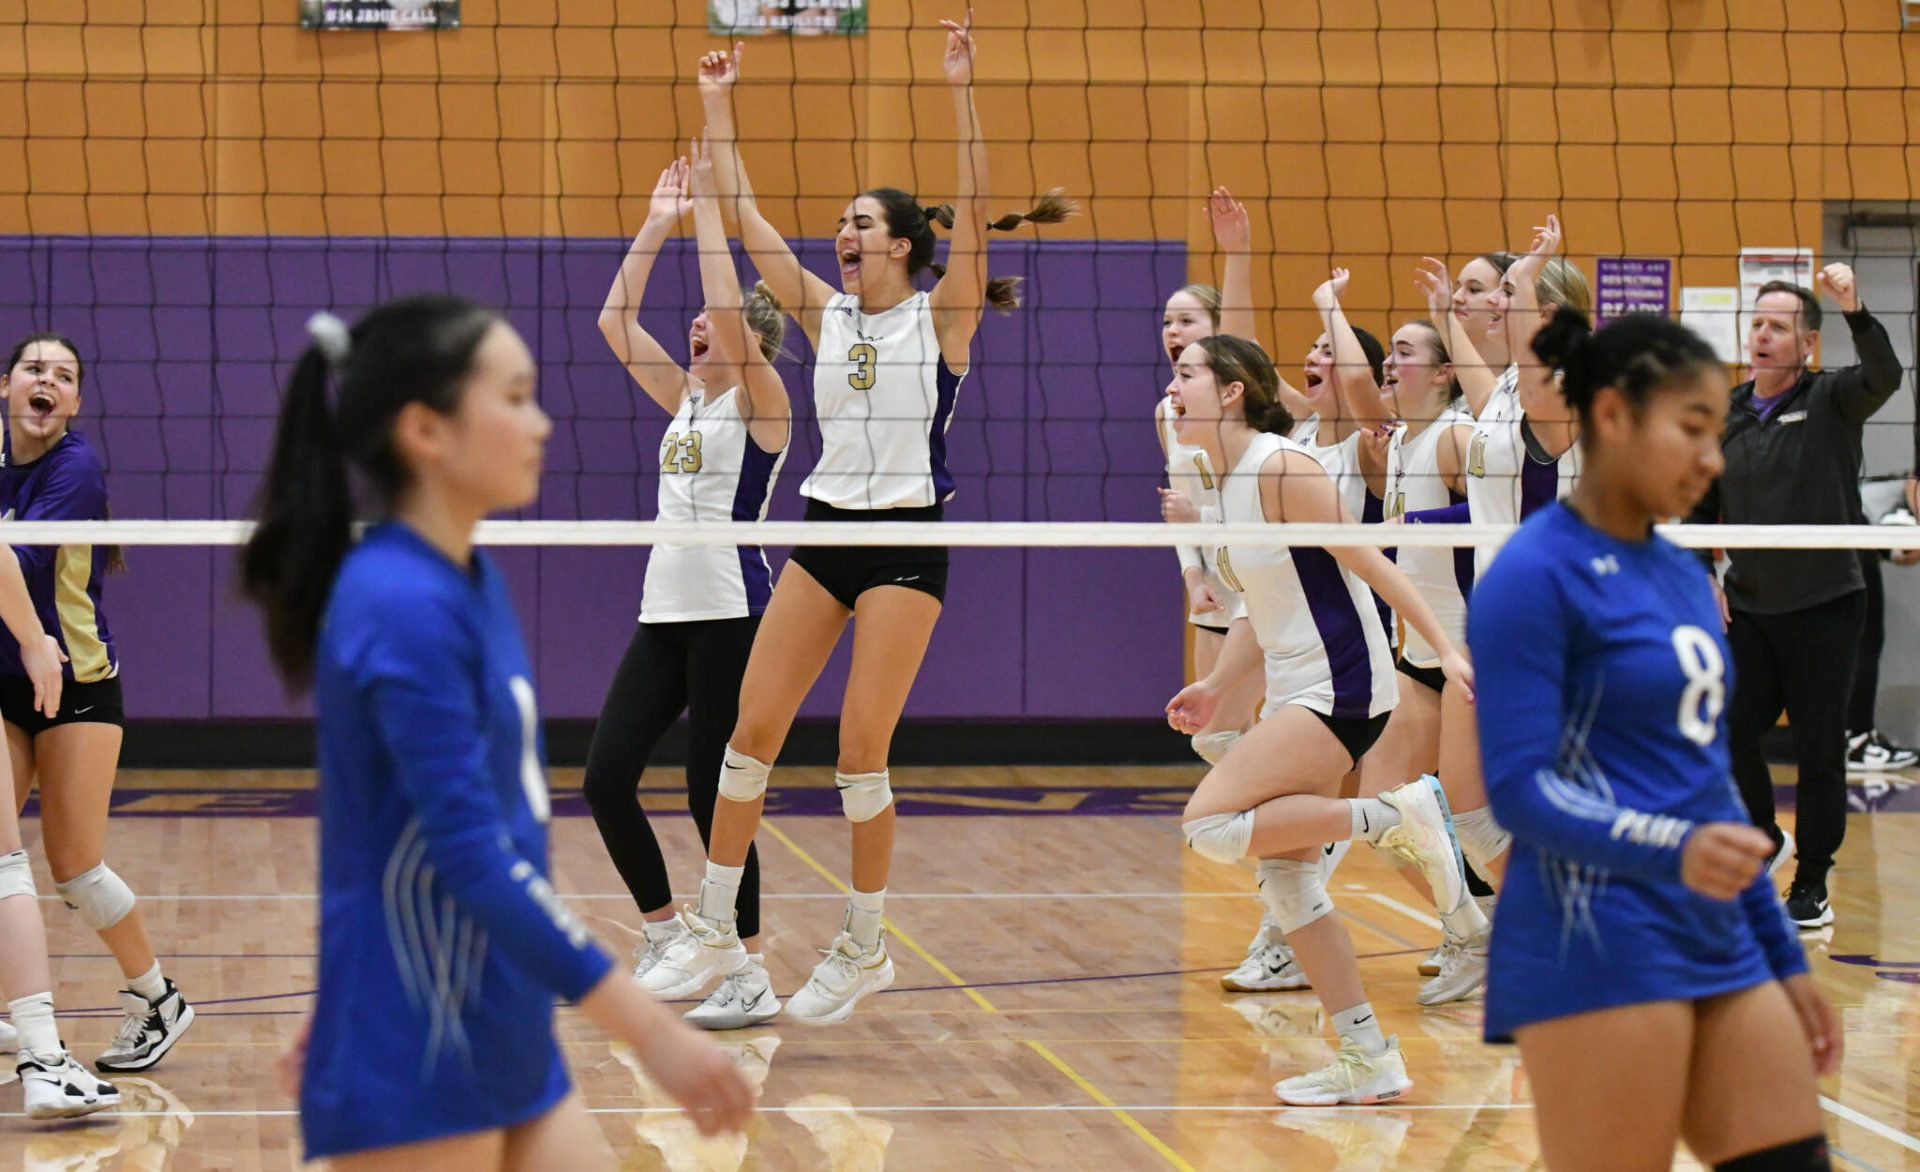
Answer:
<path fill-rule="evenodd" d="M 1828 1168 L 1839 1026 L 1734 790 L 1730 657 L 1693 557 L 1653 534 L 1718 476 L 1726 369 L 1692 332 L 1561 309 L 1584 473 L 1475 586 L 1480 745 L 1513 834 L 1486 1038 L 1517 1039 L 1553 1172 Z"/>

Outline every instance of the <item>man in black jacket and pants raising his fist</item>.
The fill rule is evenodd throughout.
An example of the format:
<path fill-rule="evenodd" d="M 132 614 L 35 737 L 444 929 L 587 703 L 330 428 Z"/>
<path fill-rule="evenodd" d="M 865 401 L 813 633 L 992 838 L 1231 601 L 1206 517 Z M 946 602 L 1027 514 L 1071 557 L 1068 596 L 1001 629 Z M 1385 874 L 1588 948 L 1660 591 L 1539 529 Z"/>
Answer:
<path fill-rule="evenodd" d="M 1901 384 L 1887 330 L 1860 307 L 1853 269 L 1828 265 L 1814 284 L 1839 302 L 1860 365 L 1809 371 L 1820 300 L 1786 281 L 1761 286 L 1747 329 L 1753 380 L 1734 388 L 1726 471 L 1695 523 L 1860 523 L 1860 432 Z M 1801 928 L 1834 922 L 1826 872 L 1847 832 L 1847 697 L 1866 617 L 1853 549 L 1734 549 L 1720 599 L 1734 649 L 1728 740 L 1753 822 L 1788 843 L 1774 820 L 1774 778 L 1761 736 L 1786 707 L 1799 759 L 1799 868 L 1788 915 Z"/>

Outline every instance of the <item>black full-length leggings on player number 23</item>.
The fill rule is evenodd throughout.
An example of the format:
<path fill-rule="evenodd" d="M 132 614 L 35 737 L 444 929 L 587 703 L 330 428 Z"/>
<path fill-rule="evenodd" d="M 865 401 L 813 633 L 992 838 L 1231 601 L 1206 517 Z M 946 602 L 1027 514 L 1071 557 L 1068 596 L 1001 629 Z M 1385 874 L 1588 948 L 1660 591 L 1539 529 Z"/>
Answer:
<path fill-rule="evenodd" d="M 588 809 L 612 865 L 641 913 L 672 905 L 660 842 L 639 809 L 639 772 L 647 757 L 687 713 L 687 809 L 707 843 L 720 795 L 720 759 L 739 719 L 739 680 L 760 619 L 708 623 L 641 623 L 634 630 L 588 749 Z M 747 849 L 739 882 L 739 934 L 760 934 L 760 855 Z"/>

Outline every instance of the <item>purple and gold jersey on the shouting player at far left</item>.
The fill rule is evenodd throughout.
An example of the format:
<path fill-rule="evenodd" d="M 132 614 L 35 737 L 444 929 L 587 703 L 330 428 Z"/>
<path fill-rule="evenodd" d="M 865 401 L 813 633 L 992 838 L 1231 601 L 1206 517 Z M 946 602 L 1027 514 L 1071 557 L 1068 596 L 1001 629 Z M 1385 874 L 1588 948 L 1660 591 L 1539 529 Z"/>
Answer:
<path fill-rule="evenodd" d="M 0 517 L 8 521 L 106 521 L 108 473 L 79 432 L 69 430 L 38 459 L 13 463 L 13 434 L 0 442 Z M 108 573 L 104 546 L 13 546 L 27 594 L 46 634 L 67 653 L 61 674 L 94 684 L 119 674 L 119 651 L 100 584 Z M 0 674 L 23 676 L 19 640 L 0 626 Z"/>

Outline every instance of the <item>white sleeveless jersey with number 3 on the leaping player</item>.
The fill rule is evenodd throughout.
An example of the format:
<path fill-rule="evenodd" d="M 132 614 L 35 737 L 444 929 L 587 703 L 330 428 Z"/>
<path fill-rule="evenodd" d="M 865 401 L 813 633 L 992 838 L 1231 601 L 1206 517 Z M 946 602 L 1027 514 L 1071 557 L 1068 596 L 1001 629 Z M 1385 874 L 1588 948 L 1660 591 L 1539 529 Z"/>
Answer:
<path fill-rule="evenodd" d="M 837 509 L 910 509 L 954 494 L 947 427 L 964 375 L 947 369 L 927 294 L 862 313 L 835 294 L 814 348 L 820 463 L 801 496 Z"/>

